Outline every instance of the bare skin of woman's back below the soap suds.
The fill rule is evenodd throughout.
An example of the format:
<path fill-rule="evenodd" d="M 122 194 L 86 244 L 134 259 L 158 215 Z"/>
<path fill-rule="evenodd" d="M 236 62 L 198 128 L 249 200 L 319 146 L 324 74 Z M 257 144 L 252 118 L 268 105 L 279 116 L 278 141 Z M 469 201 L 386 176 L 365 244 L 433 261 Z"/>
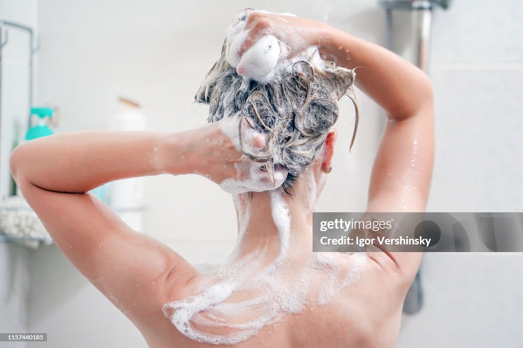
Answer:
<path fill-rule="evenodd" d="M 399 332 L 403 299 L 415 269 L 394 270 L 397 268 L 394 261 L 384 253 L 380 254 L 374 253 L 368 258 L 360 279 L 342 289 L 327 304 L 319 306 L 316 299 L 309 299 L 299 312 L 282 316 L 234 346 L 393 347 Z M 411 262 L 416 262 L 419 254 L 411 253 L 410 258 Z M 193 291 L 199 287 L 198 283 L 208 281 L 207 277 L 200 277 L 191 280 L 184 294 L 176 292 L 172 297 L 181 299 L 195 295 Z M 325 280 L 315 281 L 321 284 Z M 239 318 L 240 321 L 245 318 Z M 141 331 L 153 348 L 216 346 L 187 338 L 161 313 L 154 319 L 141 318 L 140 322 L 143 322 Z M 237 332 L 228 326 L 212 330 L 195 327 L 219 337 Z"/>

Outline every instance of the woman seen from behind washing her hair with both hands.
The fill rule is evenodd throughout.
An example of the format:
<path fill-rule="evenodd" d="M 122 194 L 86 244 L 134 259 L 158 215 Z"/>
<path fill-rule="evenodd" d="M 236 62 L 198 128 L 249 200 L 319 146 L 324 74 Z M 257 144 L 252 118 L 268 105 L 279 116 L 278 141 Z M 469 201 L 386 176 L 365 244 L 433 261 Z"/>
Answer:
<path fill-rule="evenodd" d="M 434 151 L 430 80 L 315 20 L 247 10 L 239 22 L 241 48 L 231 53 L 225 42 L 197 94 L 211 106 L 210 124 L 40 138 L 14 150 L 15 180 L 59 248 L 151 347 L 393 347 L 420 254 L 313 253 L 312 211 L 332 168 L 337 100 L 353 82 L 388 118 L 367 210 L 424 211 Z M 287 49 L 282 68 L 266 83 L 243 79 L 244 67 L 233 68 L 227 55 L 241 59 L 267 36 Z M 238 241 L 218 269 L 199 272 L 87 193 L 160 173 L 197 173 L 233 193 Z"/>

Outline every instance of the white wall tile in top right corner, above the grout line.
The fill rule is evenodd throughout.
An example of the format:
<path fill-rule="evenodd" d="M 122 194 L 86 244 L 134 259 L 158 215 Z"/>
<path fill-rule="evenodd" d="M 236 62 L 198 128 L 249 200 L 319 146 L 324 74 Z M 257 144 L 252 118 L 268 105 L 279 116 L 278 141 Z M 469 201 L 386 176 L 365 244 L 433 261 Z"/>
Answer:
<path fill-rule="evenodd" d="M 459 64 L 487 66 L 515 63 L 521 67 L 521 15 L 518 0 L 453 1 L 434 20 L 433 66 Z"/>

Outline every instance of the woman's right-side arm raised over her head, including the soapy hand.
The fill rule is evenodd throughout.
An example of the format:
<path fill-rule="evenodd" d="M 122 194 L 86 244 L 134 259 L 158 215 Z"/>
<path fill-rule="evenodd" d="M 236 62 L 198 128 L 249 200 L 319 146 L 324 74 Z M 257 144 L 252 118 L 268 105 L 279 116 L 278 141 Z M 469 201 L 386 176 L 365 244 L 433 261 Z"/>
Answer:
<path fill-rule="evenodd" d="M 388 120 L 374 160 L 367 211 L 425 211 L 434 161 L 428 76 L 393 52 L 317 20 L 253 12 L 245 30 L 249 33 L 239 55 L 270 34 L 286 43 L 289 56 L 314 45 L 324 59 L 357 68 L 356 85 L 385 110 Z M 404 284 L 410 284 L 419 265 L 418 253 L 372 254 L 380 264 L 393 260 L 404 271 Z M 396 274 L 394 269 L 391 274 Z"/>

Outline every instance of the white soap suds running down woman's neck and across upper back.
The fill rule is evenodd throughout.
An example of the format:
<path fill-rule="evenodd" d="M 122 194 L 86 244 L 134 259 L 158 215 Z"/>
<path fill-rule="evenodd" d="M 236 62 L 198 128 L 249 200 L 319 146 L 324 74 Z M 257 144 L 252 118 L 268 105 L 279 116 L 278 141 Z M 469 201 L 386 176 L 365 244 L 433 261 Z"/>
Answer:
<path fill-rule="evenodd" d="M 238 241 L 231 256 L 204 274 L 197 294 L 164 305 L 164 314 L 188 338 L 211 344 L 236 344 L 306 304 L 326 305 L 359 279 L 366 254 L 303 253 L 293 250 L 292 218 L 281 188 L 269 192 L 270 213 L 279 245 L 242 254 L 252 215 L 247 194 L 233 195 Z M 312 230 L 309 231 L 312 238 Z M 297 258 L 298 256 L 298 258 Z"/>

